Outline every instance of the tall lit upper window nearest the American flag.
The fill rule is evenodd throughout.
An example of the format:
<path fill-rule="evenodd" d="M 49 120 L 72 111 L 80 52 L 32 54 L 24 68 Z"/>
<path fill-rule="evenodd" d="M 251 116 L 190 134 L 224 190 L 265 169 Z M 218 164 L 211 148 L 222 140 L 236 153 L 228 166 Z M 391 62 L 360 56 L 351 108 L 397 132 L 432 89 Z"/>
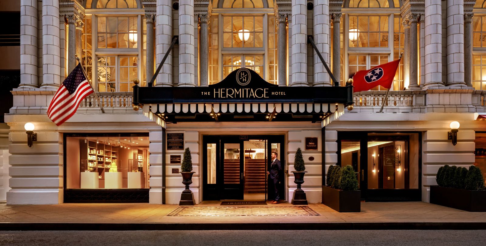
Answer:
<path fill-rule="evenodd" d="M 99 92 L 131 92 L 133 80 L 144 86 L 146 24 L 138 0 L 87 0 L 83 30 L 83 63 Z M 92 8 L 105 9 L 98 14 Z M 137 13 L 139 14 L 133 14 Z M 95 61 L 95 62 L 92 62 Z"/>

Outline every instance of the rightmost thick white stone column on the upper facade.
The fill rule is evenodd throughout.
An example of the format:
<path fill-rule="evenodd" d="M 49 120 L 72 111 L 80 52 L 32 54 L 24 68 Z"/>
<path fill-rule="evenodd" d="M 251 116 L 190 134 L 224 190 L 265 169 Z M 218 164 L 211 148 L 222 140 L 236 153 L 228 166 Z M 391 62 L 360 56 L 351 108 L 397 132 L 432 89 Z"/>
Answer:
<path fill-rule="evenodd" d="M 464 0 L 447 0 L 447 86 L 464 86 Z"/>

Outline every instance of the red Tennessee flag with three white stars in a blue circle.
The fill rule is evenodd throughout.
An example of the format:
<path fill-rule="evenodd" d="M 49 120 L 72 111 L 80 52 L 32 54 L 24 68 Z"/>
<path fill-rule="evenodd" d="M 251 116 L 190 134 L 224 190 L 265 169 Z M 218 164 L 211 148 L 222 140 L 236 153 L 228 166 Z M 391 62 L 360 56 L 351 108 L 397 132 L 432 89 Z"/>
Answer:
<path fill-rule="evenodd" d="M 378 65 L 370 70 L 361 70 L 353 76 L 353 92 L 364 92 L 381 85 L 386 89 L 392 87 L 400 59 Z"/>

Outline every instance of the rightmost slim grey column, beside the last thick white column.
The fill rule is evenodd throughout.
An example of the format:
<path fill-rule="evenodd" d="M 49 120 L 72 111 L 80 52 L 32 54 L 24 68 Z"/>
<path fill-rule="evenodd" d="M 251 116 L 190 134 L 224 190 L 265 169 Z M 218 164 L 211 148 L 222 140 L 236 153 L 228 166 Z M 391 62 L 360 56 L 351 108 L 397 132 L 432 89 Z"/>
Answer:
<path fill-rule="evenodd" d="M 464 82 L 472 87 L 472 17 L 464 14 Z"/>

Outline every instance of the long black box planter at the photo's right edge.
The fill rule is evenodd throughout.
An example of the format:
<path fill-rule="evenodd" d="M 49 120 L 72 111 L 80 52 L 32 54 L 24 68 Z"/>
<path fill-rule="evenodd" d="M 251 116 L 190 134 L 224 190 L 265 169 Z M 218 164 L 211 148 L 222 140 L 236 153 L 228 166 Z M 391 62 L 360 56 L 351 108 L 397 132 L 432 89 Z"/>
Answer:
<path fill-rule="evenodd" d="M 430 186 L 430 203 L 469 212 L 486 212 L 486 190 Z"/>

